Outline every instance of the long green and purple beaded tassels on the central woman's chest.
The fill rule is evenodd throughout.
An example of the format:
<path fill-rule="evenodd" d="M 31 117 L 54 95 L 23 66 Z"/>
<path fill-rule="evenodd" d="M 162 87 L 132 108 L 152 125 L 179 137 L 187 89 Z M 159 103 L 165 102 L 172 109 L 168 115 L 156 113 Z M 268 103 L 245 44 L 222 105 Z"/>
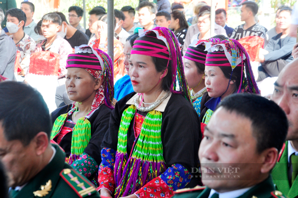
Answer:
<path fill-rule="evenodd" d="M 127 132 L 136 112 L 134 105 L 122 114 L 114 169 L 115 198 L 133 194 L 166 170 L 161 141 L 162 113 L 151 111 L 145 117 L 138 140 L 127 159 Z"/>

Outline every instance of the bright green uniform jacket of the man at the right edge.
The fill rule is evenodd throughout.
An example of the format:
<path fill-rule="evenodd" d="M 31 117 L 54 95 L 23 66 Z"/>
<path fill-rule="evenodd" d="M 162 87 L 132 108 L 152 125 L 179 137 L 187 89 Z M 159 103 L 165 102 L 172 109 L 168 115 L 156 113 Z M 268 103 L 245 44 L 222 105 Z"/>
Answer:
<path fill-rule="evenodd" d="M 276 185 L 276 189 L 288 198 L 298 197 L 298 177 L 296 177 L 291 187 L 288 179 L 288 141 L 286 141 L 285 147 L 281 152 L 280 160 L 271 172 L 273 182 Z"/>

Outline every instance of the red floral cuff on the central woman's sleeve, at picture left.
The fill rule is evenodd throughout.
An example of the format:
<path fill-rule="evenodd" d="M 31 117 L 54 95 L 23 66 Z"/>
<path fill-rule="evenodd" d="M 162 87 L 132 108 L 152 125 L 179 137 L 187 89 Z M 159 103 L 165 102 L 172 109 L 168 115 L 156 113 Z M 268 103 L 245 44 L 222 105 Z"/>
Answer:
<path fill-rule="evenodd" d="M 106 188 L 111 194 L 114 194 L 114 171 L 111 168 L 100 168 L 98 171 L 98 181 L 100 182 L 100 186 L 97 188 L 97 191 Z"/>

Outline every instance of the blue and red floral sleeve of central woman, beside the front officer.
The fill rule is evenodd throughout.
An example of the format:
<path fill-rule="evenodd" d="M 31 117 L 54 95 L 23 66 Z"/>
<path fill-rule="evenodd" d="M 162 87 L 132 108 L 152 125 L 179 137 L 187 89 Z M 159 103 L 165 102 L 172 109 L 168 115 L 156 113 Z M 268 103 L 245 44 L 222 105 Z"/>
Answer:
<path fill-rule="evenodd" d="M 173 191 L 184 188 L 191 180 L 192 174 L 181 164 L 173 164 L 159 177 L 148 182 L 134 194 L 139 198 L 170 198 Z"/>

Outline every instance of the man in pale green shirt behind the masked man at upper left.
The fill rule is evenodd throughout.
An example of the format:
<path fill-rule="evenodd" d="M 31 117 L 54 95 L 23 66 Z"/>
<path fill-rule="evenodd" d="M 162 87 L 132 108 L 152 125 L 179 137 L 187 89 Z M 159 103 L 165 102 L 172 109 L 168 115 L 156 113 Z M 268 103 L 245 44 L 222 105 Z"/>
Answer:
<path fill-rule="evenodd" d="M 34 28 L 37 25 L 33 20 L 33 15 L 35 11 L 34 4 L 29 1 L 21 2 L 21 10 L 26 14 L 26 23 L 24 27 L 24 32 L 33 38 L 34 41 L 39 39 L 39 35 L 35 33 Z"/>

